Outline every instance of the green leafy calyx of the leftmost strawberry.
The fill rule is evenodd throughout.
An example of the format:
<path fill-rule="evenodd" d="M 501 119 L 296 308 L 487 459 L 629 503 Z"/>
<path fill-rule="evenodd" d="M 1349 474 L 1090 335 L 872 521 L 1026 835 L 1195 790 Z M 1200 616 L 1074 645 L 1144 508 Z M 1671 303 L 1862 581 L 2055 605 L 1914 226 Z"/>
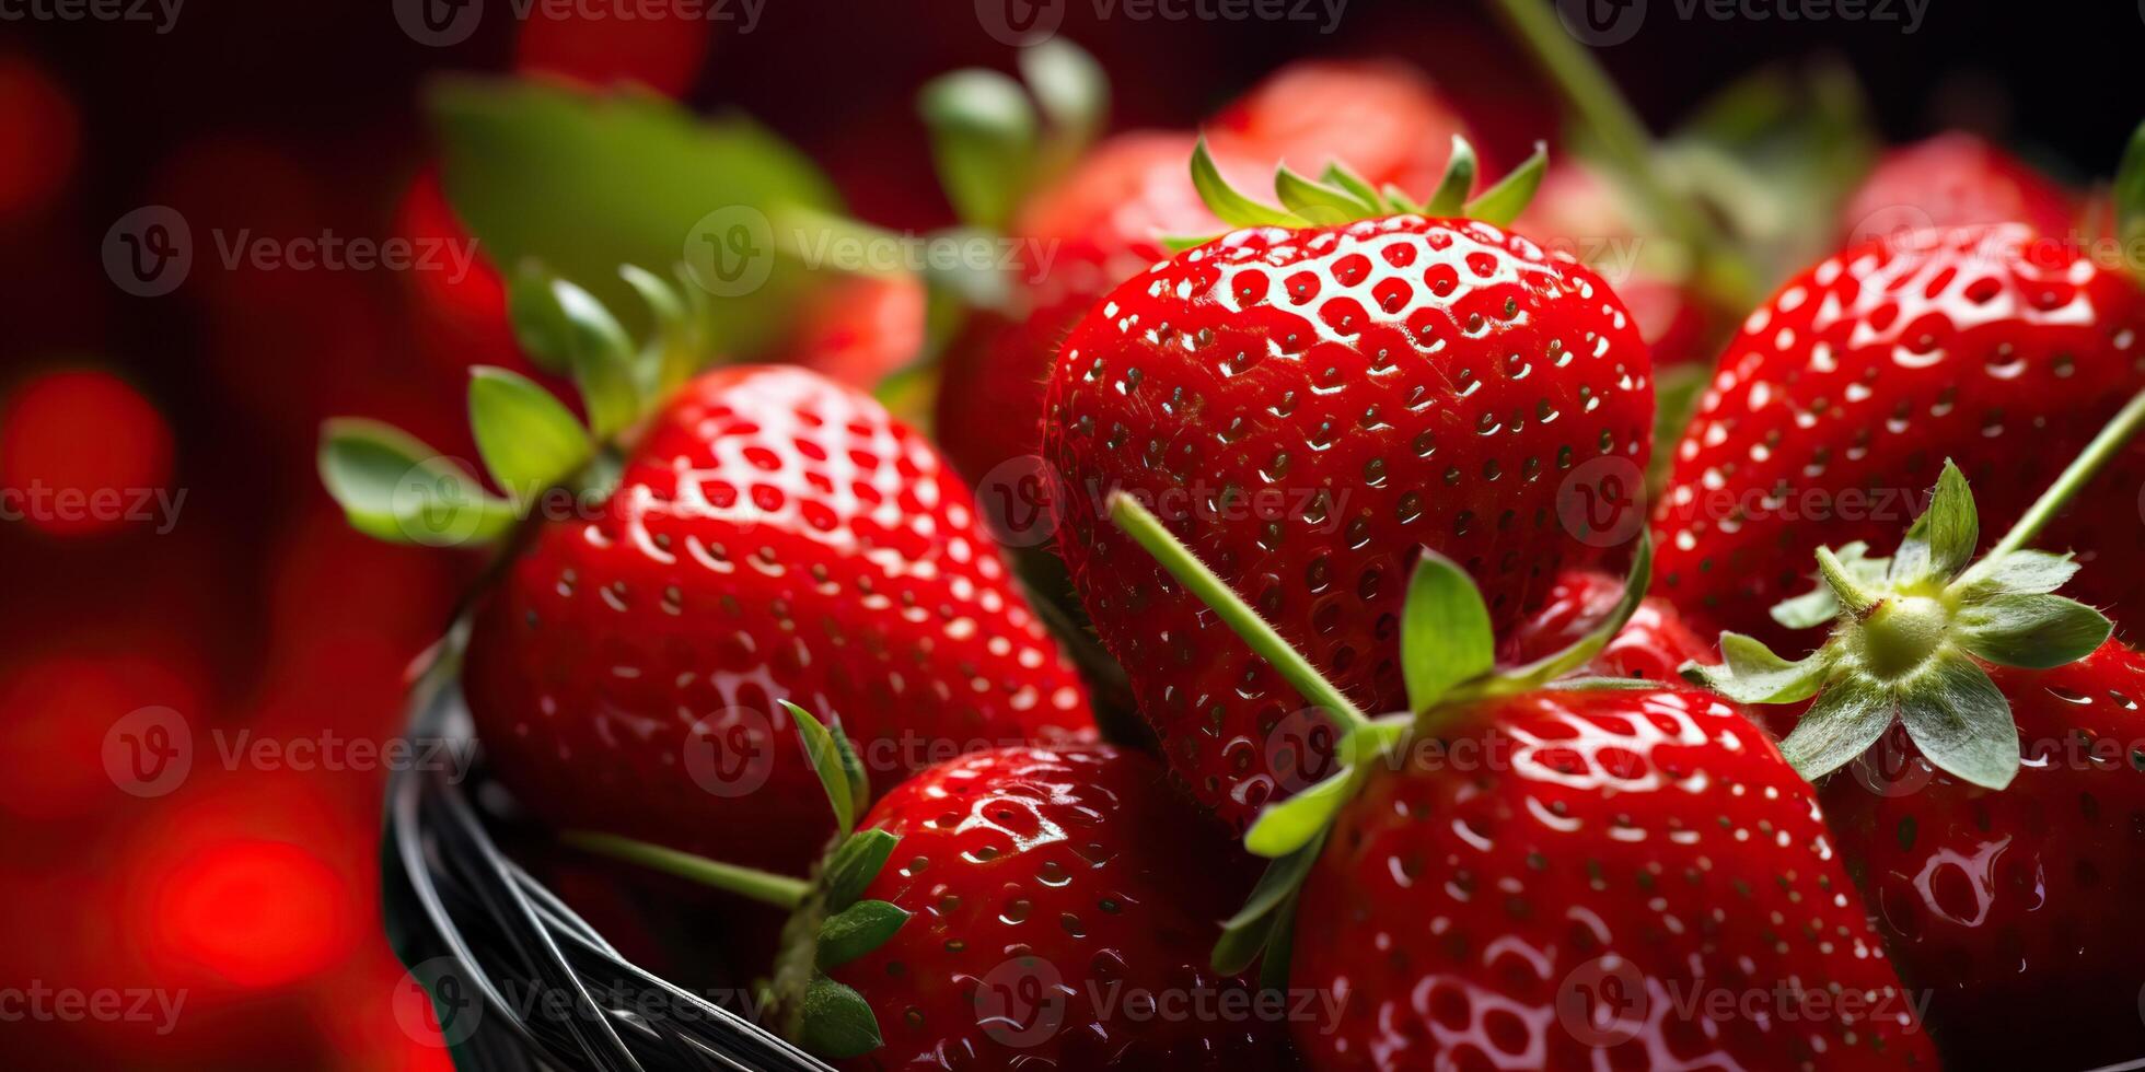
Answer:
<path fill-rule="evenodd" d="M 470 431 L 500 493 L 414 435 L 365 418 L 322 425 L 322 485 L 358 532 L 431 547 L 504 540 L 558 489 L 607 493 L 616 444 L 710 356 L 708 294 L 682 272 L 665 281 L 620 268 L 654 324 L 644 341 L 586 289 L 538 266 L 517 272 L 515 339 L 538 367 L 573 377 L 588 420 L 526 375 L 472 367 Z"/>

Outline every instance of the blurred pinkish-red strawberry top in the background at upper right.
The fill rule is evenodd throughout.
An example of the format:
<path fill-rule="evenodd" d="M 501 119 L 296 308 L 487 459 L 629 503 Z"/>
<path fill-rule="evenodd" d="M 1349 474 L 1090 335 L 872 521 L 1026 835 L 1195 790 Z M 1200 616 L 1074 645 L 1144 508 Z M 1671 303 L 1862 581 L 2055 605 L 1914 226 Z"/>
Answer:
<path fill-rule="evenodd" d="M 2066 238 L 2076 206 L 2070 191 L 2010 152 L 1950 131 L 1885 152 L 1840 210 L 1847 242 L 1967 223 L 2025 223 Z"/>

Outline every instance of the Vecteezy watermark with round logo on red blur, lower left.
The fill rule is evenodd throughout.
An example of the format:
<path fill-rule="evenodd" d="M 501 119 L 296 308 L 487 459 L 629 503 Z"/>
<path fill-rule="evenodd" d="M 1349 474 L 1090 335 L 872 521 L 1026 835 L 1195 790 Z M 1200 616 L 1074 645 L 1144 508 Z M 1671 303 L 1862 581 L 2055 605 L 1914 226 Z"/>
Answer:
<path fill-rule="evenodd" d="M 210 729 L 212 759 L 223 770 L 292 770 L 300 774 L 446 772 L 461 780 L 476 763 L 470 738 L 345 738 L 332 729 L 270 738 L 251 729 Z M 112 785 L 129 795 L 161 798 L 187 783 L 199 759 L 193 725 L 172 708 L 139 708 L 105 729 L 103 761 Z"/>

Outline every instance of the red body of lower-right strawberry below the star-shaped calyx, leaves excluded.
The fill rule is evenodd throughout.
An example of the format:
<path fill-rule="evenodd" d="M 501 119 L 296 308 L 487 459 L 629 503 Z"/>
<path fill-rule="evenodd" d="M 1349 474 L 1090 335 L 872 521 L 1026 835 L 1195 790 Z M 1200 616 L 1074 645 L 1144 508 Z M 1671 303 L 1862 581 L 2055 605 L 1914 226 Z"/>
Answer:
<path fill-rule="evenodd" d="M 2145 658 L 2109 641 L 2068 667 L 1991 675 L 2018 720 L 2018 778 L 1961 783 L 1894 727 L 1825 783 L 1840 858 L 1900 976 L 1933 991 L 1946 1068 L 2136 1059 Z"/>

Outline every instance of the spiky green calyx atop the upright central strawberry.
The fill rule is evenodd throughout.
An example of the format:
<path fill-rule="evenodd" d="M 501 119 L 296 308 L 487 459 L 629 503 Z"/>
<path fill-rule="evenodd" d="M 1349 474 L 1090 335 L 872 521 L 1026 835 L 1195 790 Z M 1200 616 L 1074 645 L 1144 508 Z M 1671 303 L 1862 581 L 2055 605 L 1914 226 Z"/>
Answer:
<path fill-rule="evenodd" d="M 1414 202 L 1407 191 L 1392 184 L 1373 189 L 1349 172 L 1347 165 L 1334 161 L 1326 165 L 1326 172 L 1317 180 L 1291 172 L 1287 163 L 1278 165 L 1274 169 L 1274 195 L 1281 199 L 1281 208 L 1274 208 L 1229 187 L 1229 180 L 1223 178 L 1221 167 L 1214 163 L 1214 154 L 1208 152 L 1205 137 L 1193 148 L 1193 189 L 1199 191 L 1199 199 L 1205 202 L 1208 210 L 1231 227 L 1334 227 L 1360 219 L 1407 214 L 1467 217 L 1504 227 L 1525 212 L 1547 169 L 1549 146 L 1536 142 L 1534 154 L 1519 167 L 1476 197 L 1467 197 L 1476 182 L 1476 152 L 1465 137 L 1452 135 L 1452 154 L 1446 159 L 1446 174 L 1429 202 Z M 1167 236 L 1163 244 L 1178 253 L 1212 242 L 1214 238 L 1218 236 Z"/>

